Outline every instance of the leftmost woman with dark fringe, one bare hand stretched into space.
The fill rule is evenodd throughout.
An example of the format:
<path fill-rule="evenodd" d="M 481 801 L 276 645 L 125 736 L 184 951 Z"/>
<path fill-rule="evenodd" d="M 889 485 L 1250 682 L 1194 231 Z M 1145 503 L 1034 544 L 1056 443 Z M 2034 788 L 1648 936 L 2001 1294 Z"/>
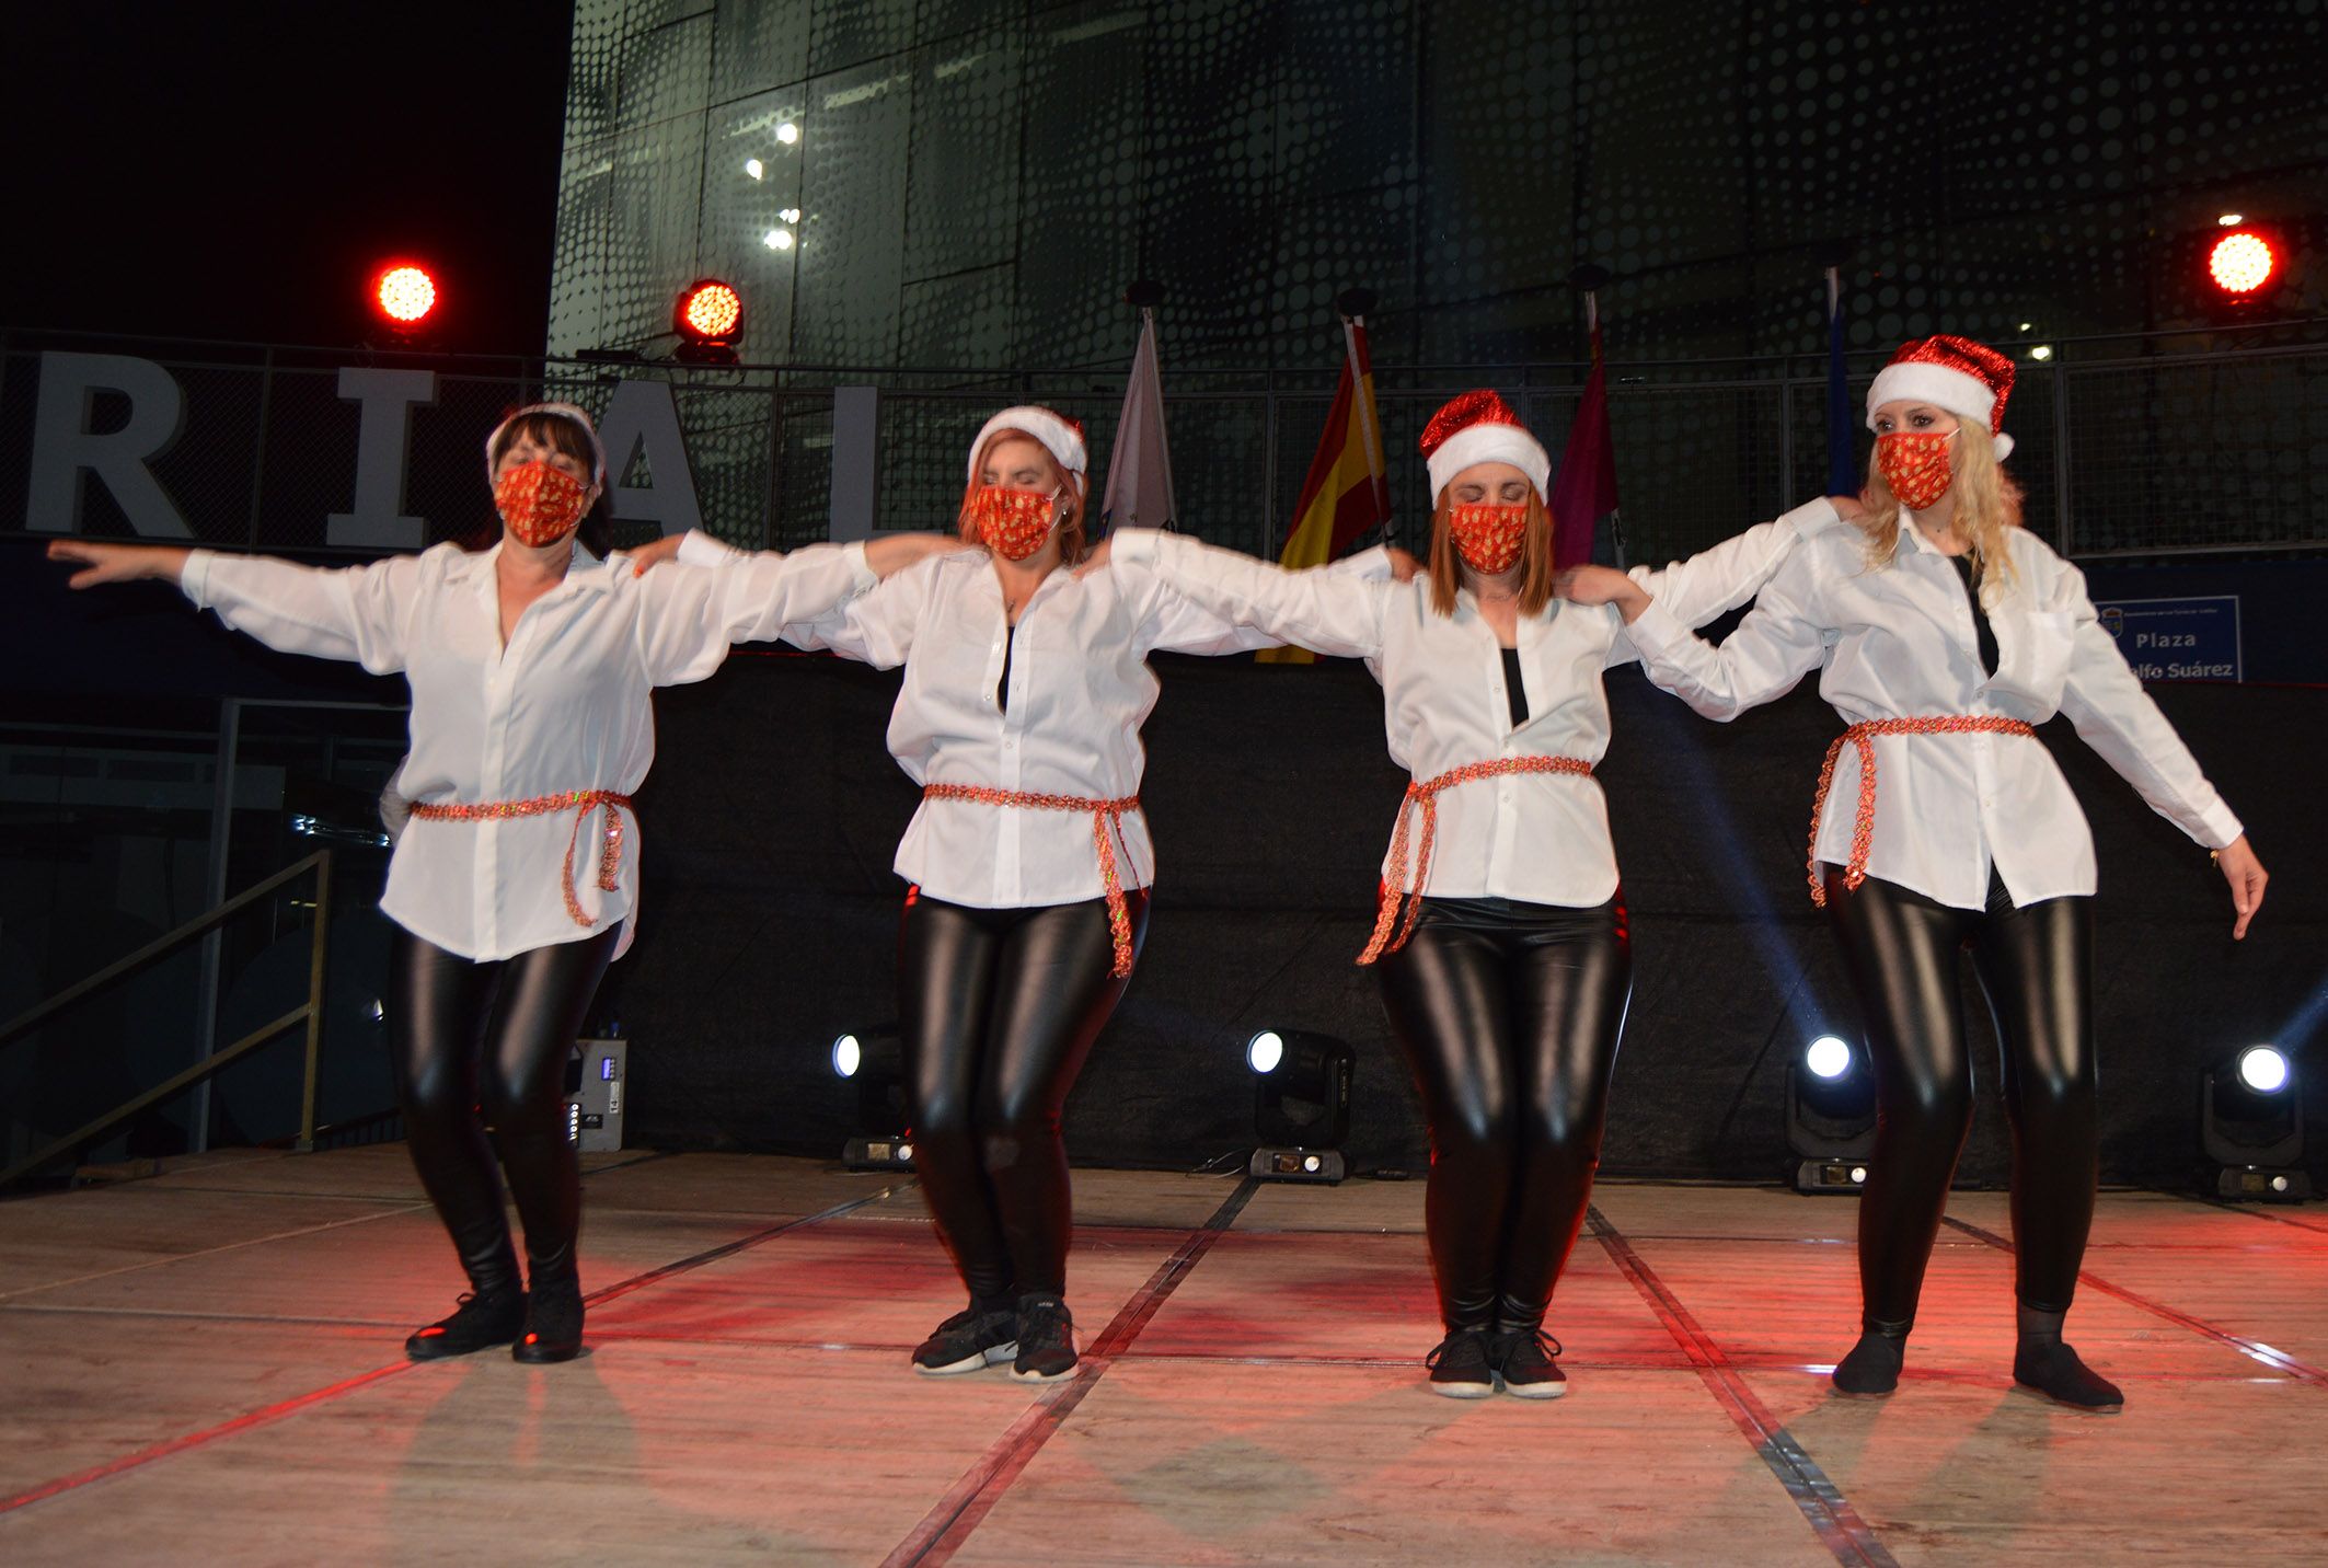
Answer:
<path fill-rule="evenodd" d="M 347 570 L 207 549 L 58 540 L 74 589 L 158 577 L 268 647 L 349 658 L 412 686 L 412 800 L 379 900 L 393 921 L 389 1049 L 412 1163 L 470 1293 L 412 1333 L 414 1361 L 582 1347 L 580 1166 L 566 1061 L 638 910 L 631 793 L 654 761 L 654 686 L 698 682 L 729 642 L 766 640 L 864 593 L 934 540 L 766 556 L 747 572 L 640 577 L 577 565 L 605 489 L 589 416 L 545 402 L 487 437 L 501 542 L 438 544 Z M 868 556 L 873 565 L 868 568 Z M 494 1128 L 491 1142 L 487 1131 Z M 526 1228 L 531 1291 L 501 1207 Z"/>

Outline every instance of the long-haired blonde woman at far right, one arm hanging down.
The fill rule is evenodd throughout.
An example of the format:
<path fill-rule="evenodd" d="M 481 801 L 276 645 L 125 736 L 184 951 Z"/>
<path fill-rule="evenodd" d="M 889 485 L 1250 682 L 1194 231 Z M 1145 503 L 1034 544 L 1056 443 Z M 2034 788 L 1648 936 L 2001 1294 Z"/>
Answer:
<path fill-rule="evenodd" d="M 1818 779 L 1809 856 L 1811 898 L 1867 1014 L 1879 1105 L 1860 1193 L 1862 1333 L 1834 1387 L 1883 1396 L 1900 1382 L 1972 1124 L 1956 1005 L 1969 947 L 2014 1126 L 2014 1377 L 2114 1410 L 2118 1389 L 2060 1338 L 2098 1170 L 2093 835 L 2032 726 L 2067 714 L 2160 817 L 2216 851 L 2235 938 L 2265 872 L 2098 623 L 2084 575 L 2018 526 L 2021 491 L 2000 468 L 2011 384 L 2011 361 L 1983 344 L 1902 344 L 1867 391 L 1876 451 L 1860 530 L 1807 544 L 1720 649 L 1613 572 L 1567 591 L 1620 605 L 1651 679 L 1711 719 L 1823 670 L 1820 693 L 1851 724 Z"/>

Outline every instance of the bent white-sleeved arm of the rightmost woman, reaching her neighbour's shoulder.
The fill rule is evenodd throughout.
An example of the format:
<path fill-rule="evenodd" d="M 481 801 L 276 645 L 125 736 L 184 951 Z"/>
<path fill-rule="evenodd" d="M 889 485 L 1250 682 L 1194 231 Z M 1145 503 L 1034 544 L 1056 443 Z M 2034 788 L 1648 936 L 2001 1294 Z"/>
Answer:
<path fill-rule="evenodd" d="M 1814 589 L 1809 556 L 1790 554 L 1739 628 L 1713 647 L 1625 572 L 1583 565 L 1560 586 L 1578 605 L 1616 605 L 1648 679 L 1723 721 L 1786 696 L 1825 663 L 1827 630 L 1814 610 Z"/>

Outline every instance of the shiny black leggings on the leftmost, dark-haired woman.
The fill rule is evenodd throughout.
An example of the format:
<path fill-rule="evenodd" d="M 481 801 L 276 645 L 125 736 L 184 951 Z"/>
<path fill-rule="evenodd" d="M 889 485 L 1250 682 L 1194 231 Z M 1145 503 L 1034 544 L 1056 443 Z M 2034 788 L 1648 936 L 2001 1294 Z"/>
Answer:
<path fill-rule="evenodd" d="M 575 1263 L 582 1170 L 566 1138 L 566 1061 L 619 938 L 622 926 L 612 926 L 475 963 L 396 926 L 386 1014 L 405 1138 L 480 1293 L 521 1284 L 496 1149 L 533 1273 Z"/>

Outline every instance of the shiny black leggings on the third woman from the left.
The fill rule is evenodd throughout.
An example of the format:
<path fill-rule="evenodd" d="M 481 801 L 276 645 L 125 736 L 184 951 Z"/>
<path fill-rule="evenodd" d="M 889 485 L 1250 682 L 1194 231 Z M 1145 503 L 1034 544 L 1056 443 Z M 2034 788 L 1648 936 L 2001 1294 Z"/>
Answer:
<path fill-rule="evenodd" d="M 1599 1168 L 1632 998 L 1625 905 L 1425 898 L 1378 972 L 1432 1121 L 1439 1314 L 1450 1333 L 1536 1328 Z"/>

